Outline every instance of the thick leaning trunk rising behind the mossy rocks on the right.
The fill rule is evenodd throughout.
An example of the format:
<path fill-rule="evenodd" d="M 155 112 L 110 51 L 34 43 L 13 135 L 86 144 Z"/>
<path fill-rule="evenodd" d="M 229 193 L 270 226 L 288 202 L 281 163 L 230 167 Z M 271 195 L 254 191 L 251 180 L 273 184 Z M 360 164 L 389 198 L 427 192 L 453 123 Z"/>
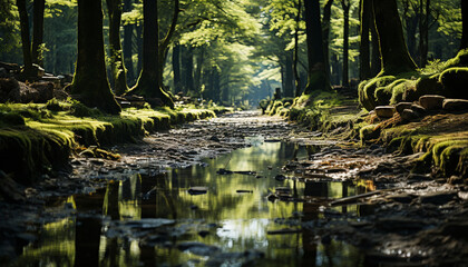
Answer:
<path fill-rule="evenodd" d="M 413 71 L 417 66 L 404 42 L 397 0 L 372 0 L 382 60 L 379 76 Z"/>

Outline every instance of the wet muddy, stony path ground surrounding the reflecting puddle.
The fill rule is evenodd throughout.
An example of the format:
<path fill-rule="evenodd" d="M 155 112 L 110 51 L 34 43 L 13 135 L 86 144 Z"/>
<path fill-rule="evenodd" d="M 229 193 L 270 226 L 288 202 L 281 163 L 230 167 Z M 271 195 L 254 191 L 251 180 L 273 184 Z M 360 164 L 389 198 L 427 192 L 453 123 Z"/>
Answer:
<path fill-rule="evenodd" d="M 302 241 L 310 243 L 303 245 L 304 257 L 309 245 L 344 240 L 363 249 L 363 266 L 464 266 L 468 261 L 468 187 L 459 180 L 410 174 L 420 154 L 388 154 L 379 145 L 361 147 L 321 136 L 281 117 L 241 111 L 109 147 L 120 154 L 119 160 L 75 156 L 70 174 L 45 177 L 26 188 L 26 201 L 0 202 L 0 259 L 13 263 L 23 246 L 38 239 L 41 226 L 64 216 L 47 211 L 58 198 L 92 195 L 128 174 L 155 176 L 167 167 L 203 166 L 203 159 L 254 142 L 282 141 L 306 147 L 309 156 L 282 162 L 284 175 L 267 179 L 298 181 L 305 188 L 332 181 L 363 188 L 341 198 L 310 191 L 269 195 L 273 202 L 303 205 L 300 214 L 284 215 L 281 224 L 301 227 Z M 357 211 L 349 212 L 351 207 Z"/>

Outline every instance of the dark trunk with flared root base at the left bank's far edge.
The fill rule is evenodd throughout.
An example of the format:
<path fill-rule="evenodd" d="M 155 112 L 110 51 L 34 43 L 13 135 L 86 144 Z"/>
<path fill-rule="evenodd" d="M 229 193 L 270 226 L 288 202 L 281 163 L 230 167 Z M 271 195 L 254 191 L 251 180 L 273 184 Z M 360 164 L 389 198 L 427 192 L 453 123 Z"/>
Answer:
<path fill-rule="evenodd" d="M 143 66 L 138 81 L 129 92 L 146 98 L 159 98 L 165 106 L 174 108 L 170 97 L 163 90 L 159 79 L 163 71 L 159 67 L 159 30 L 158 30 L 157 2 L 143 1 Z"/>

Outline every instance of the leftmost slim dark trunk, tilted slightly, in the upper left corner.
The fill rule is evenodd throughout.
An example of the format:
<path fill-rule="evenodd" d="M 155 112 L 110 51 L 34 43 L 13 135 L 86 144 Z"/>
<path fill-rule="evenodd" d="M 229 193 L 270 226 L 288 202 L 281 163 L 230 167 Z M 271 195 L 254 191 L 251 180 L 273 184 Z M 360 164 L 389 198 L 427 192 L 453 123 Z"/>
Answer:
<path fill-rule="evenodd" d="M 28 19 L 28 10 L 26 8 L 26 0 L 17 0 L 17 7 L 18 7 L 18 12 L 20 17 L 22 61 L 25 65 L 23 73 L 26 76 L 29 76 L 32 69 L 32 57 L 31 57 L 31 40 L 29 38 L 29 19 Z"/>

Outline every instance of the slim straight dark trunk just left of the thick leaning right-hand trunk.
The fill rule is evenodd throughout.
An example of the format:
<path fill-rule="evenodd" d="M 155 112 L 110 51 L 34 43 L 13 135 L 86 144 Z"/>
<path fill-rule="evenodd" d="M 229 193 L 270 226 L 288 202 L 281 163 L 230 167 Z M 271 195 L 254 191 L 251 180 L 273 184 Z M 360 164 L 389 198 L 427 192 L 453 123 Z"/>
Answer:
<path fill-rule="evenodd" d="M 361 41 L 359 43 L 359 79 L 367 80 L 371 77 L 370 72 L 370 47 L 369 47 L 369 22 L 371 19 L 371 0 L 361 0 Z"/>

